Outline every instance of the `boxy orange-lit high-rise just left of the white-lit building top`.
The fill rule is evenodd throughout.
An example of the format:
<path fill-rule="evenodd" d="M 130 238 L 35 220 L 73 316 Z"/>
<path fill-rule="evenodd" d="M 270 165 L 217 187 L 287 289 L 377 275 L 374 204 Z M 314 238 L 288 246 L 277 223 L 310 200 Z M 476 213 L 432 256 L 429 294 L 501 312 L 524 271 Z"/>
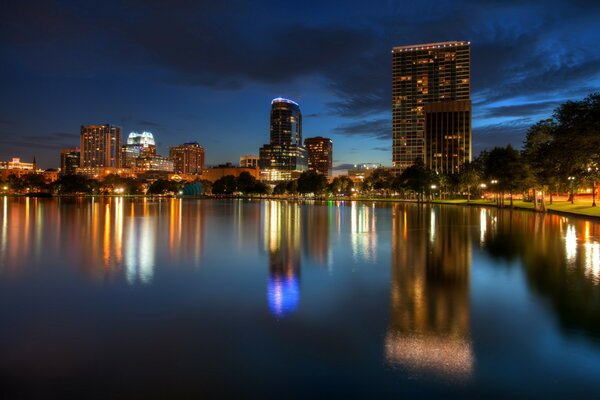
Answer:
<path fill-rule="evenodd" d="M 81 126 L 80 136 L 82 168 L 121 167 L 121 128 L 118 126 Z"/>

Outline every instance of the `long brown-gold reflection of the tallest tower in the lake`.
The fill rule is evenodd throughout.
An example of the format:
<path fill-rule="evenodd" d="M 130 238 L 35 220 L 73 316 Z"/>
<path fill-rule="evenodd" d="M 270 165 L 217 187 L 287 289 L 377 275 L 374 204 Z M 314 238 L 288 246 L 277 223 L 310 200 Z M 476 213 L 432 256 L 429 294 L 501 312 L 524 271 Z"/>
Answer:
<path fill-rule="evenodd" d="M 455 209 L 393 206 L 385 356 L 394 367 L 451 379 L 472 374 L 472 248 L 463 217 Z"/>

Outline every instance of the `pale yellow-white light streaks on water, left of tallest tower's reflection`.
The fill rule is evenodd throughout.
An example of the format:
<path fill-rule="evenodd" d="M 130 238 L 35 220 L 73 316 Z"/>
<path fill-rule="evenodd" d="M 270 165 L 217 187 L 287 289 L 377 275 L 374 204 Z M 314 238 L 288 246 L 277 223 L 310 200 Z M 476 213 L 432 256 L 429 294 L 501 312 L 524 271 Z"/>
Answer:
<path fill-rule="evenodd" d="M 375 262 L 377 231 L 375 205 L 352 202 L 350 212 L 350 240 L 354 259 Z"/>

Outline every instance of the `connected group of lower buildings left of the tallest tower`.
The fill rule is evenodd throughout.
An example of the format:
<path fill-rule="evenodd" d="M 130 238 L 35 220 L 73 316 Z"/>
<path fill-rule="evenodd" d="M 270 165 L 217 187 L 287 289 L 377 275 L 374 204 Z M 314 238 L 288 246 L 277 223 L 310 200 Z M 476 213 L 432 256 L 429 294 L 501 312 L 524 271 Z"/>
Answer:
<path fill-rule="evenodd" d="M 304 171 L 328 178 L 332 173 L 333 142 L 324 137 L 302 141 L 302 114 L 298 103 L 276 98 L 271 102 L 270 141 L 259 155 L 243 155 L 239 165 L 205 166 L 205 150 L 197 142 L 169 148 L 168 157 L 156 153 L 151 132 L 131 132 L 121 145 L 118 126 L 81 127 L 80 147 L 61 151 L 61 174 L 83 174 L 102 178 L 109 174 L 168 179 L 215 181 L 246 171 L 267 183 L 291 180 Z"/>

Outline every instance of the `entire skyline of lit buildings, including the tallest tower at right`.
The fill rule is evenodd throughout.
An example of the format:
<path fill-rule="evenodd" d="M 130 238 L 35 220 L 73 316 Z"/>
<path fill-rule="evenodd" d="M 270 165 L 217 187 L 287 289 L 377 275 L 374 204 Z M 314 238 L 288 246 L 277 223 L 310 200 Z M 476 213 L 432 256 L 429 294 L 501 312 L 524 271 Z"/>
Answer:
<path fill-rule="evenodd" d="M 111 124 L 81 127 L 78 148 L 63 149 L 60 174 L 102 178 L 107 174 L 214 181 L 247 171 L 275 184 L 315 171 L 331 178 L 332 140 L 302 140 L 298 103 L 284 98 L 271 102 L 269 143 L 258 155 L 240 157 L 239 165 L 205 166 L 205 150 L 197 142 L 156 153 L 150 132 L 131 132 L 121 144 L 121 128 Z M 422 160 L 439 173 L 459 172 L 472 158 L 470 43 L 443 42 L 394 47 L 392 50 L 392 171 L 401 173 Z M 25 165 L 27 164 L 27 165 Z M 35 163 L 19 159 L 0 163 L 0 177 L 37 171 Z M 381 165 L 357 165 L 353 180 Z"/>

